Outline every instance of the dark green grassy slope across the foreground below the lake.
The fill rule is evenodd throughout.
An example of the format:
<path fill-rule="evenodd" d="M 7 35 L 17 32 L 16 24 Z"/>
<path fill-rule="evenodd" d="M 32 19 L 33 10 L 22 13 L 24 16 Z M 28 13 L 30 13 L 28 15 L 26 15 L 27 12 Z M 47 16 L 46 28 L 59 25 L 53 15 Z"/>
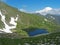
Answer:
<path fill-rule="evenodd" d="M 30 38 L 22 38 L 22 39 L 14 39 L 14 38 L 0 38 L 0 45 L 25 45 L 24 43 L 28 43 L 30 45 L 59 45 L 60 44 L 60 32 L 42 35 L 38 37 L 30 37 Z M 27 45 L 27 44 L 26 44 Z"/>

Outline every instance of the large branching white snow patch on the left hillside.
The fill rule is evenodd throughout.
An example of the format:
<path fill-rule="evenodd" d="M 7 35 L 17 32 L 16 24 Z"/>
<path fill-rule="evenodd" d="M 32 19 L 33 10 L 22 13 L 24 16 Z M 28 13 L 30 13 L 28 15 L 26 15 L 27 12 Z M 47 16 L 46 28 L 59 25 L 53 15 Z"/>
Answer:
<path fill-rule="evenodd" d="M 12 33 L 11 29 L 14 29 L 16 28 L 16 21 L 18 20 L 18 16 L 16 17 L 16 19 L 14 19 L 14 17 L 11 17 L 11 20 L 10 20 L 10 24 L 12 24 L 13 26 L 9 26 L 5 21 L 5 15 L 2 14 L 2 12 L 0 11 L 0 16 L 1 16 L 1 21 L 4 23 L 5 25 L 5 28 L 3 29 L 0 29 L 0 31 L 2 32 L 6 32 L 6 33 Z"/>

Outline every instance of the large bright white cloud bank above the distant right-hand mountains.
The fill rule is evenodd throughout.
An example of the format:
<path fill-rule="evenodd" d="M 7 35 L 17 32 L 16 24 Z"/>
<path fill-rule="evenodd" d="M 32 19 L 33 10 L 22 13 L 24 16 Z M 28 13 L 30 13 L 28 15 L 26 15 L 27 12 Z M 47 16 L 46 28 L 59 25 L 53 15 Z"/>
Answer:
<path fill-rule="evenodd" d="M 40 13 L 42 15 L 46 15 L 46 14 L 60 14 L 60 9 L 53 9 L 51 7 L 45 7 L 42 10 L 35 11 L 35 13 Z"/>

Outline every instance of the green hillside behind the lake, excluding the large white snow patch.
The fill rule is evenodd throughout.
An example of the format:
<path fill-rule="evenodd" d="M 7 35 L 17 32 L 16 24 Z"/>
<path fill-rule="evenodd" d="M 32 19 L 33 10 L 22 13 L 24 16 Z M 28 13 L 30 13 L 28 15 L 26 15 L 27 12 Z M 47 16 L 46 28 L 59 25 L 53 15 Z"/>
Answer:
<path fill-rule="evenodd" d="M 26 32 L 26 30 L 23 30 L 26 28 L 46 29 L 49 32 L 55 32 L 60 29 L 59 25 L 56 25 L 54 21 L 51 21 L 52 19 L 48 20 L 42 15 L 21 12 L 17 8 L 11 7 L 3 2 L 0 2 L 0 10 L 6 16 L 7 24 L 9 24 L 8 22 L 10 21 L 10 17 L 16 17 L 17 14 L 19 15 L 19 19 L 17 21 L 17 28 L 13 29 L 12 31 L 23 36 L 28 35 L 28 31 Z M 0 28 L 3 27 L 4 24 L 0 20 Z"/>

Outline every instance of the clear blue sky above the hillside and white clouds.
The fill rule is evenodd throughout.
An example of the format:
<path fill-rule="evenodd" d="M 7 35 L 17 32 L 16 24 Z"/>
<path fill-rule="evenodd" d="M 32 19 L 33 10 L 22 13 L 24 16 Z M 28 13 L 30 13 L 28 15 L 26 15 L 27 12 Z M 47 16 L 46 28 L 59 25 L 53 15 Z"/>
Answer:
<path fill-rule="evenodd" d="M 45 7 L 60 8 L 60 0 L 3 0 L 8 5 L 24 9 L 29 12 L 43 9 Z"/>

